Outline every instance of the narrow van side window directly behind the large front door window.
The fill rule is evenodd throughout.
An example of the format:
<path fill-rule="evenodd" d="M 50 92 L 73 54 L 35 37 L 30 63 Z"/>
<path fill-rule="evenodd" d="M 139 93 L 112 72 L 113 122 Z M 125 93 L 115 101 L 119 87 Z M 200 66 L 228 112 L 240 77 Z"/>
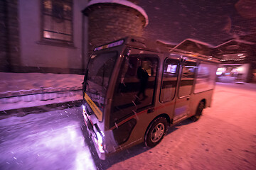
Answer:
<path fill-rule="evenodd" d="M 176 91 L 176 84 L 178 79 L 178 64 L 179 61 L 175 59 L 166 59 L 164 62 L 164 72 L 161 82 L 160 101 L 166 102 L 173 100 Z"/>

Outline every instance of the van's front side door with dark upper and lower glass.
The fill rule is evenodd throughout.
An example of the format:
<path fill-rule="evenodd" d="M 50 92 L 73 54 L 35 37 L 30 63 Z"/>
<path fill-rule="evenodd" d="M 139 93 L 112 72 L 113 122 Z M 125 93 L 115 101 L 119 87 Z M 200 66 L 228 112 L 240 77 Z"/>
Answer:
<path fill-rule="evenodd" d="M 110 114 L 110 127 L 118 127 L 113 132 L 119 145 L 127 141 L 132 132 L 136 124 L 134 115 L 154 105 L 158 63 L 157 55 L 136 49 L 122 62 Z"/>

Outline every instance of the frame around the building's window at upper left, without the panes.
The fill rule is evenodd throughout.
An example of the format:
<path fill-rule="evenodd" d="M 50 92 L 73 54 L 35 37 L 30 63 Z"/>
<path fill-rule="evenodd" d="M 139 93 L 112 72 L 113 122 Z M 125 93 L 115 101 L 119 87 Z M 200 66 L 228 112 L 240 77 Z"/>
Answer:
<path fill-rule="evenodd" d="M 73 6 L 73 0 L 58 0 L 61 2 L 65 2 L 70 4 L 71 7 L 71 16 L 70 19 L 68 18 L 64 18 L 64 21 L 70 21 L 70 28 L 71 28 L 71 33 L 70 33 L 70 39 L 71 40 L 61 40 L 61 39 L 56 39 L 56 38 L 46 38 L 44 37 L 44 31 L 45 31 L 45 16 L 50 16 L 51 18 L 53 18 L 53 15 L 47 14 L 45 12 L 44 9 L 44 1 L 46 0 L 41 0 L 41 28 L 40 28 L 40 34 L 41 34 L 41 40 L 38 42 L 38 44 L 43 44 L 43 45 L 53 45 L 53 46 L 59 46 L 59 47 L 70 47 L 70 48 L 75 48 L 74 46 L 74 28 L 73 28 L 73 12 L 74 12 L 74 6 Z M 55 0 L 51 0 L 51 1 L 55 1 Z M 57 33 L 53 30 L 48 30 L 48 32 L 52 32 L 52 33 Z M 65 33 L 61 33 L 63 35 L 66 35 Z M 68 35 L 68 34 L 67 34 Z"/>

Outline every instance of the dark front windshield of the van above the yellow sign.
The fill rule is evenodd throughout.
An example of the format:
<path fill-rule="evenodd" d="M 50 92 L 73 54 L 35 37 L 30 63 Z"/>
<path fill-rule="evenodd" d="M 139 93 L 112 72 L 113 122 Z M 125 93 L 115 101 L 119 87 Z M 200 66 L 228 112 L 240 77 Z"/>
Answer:
<path fill-rule="evenodd" d="M 87 70 L 86 94 L 92 101 L 103 109 L 107 87 L 117 60 L 117 52 L 107 52 L 99 55 L 92 55 Z"/>

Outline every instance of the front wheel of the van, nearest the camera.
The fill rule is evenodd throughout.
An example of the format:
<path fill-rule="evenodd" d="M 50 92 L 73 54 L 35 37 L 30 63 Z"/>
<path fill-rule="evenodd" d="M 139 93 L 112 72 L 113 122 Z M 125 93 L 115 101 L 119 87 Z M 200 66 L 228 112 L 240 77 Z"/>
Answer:
<path fill-rule="evenodd" d="M 163 140 L 164 135 L 168 128 L 168 123 L 166 118 L 156 118 L 150 125 L 144 137 L 144 145 L 146 147 L 155 147 L 161 140 Z"/>

